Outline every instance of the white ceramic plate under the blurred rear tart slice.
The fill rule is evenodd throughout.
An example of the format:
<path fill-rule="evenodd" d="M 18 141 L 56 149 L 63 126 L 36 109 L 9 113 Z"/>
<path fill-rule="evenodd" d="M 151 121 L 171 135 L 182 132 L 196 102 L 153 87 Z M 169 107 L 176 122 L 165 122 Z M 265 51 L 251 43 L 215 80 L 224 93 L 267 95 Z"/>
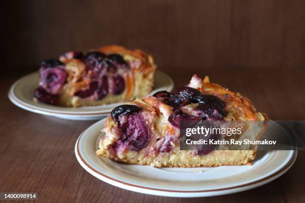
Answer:
<path fill-rule="evenodd" d="M 8 97 L 15 105 L 35 113 L 60 117 L 70 120 L 97 120 L 105 117 L 111 110 L 122 103 L 111 103 L 99 106 L 61 107 L 42 102 L 34 102 L 34 89 L 39 83 L 38 72 L 31 73 L 17 80 L 10 88 Z M 153 90 L 150 95 L 158 91 L 172 91 L 173 81 L 161 71 L 156 71 Z"/>

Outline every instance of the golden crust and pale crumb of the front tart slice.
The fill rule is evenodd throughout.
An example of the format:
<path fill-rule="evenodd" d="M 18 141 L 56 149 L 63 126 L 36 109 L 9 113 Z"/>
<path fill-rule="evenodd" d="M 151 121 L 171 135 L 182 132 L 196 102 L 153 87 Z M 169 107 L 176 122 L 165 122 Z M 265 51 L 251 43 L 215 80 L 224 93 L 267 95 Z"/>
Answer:
<path fill-rule="evenodd" d="M 269 119 L 265 113 L 257 112 L 250 100 L 239 93 L 233 93 L 220 85 L 210 83 L 208 77 L 205 77 L 202 81 L 197 76 L 194 77 L 188 85 L 189 87 L 197 88 L 203 94 L 214 95 L 225 102 L 225 110 L 228 112 L 224 118 L 225 120 L 264 121 Z M 171 106 L 166 105 L 154 97 L 147 97 L 129 103 L 138 105 L 144 109 L 143 111 L 146 112 L 145 116 L 148 113 L 152 114 L 152 118 L 150 118 L 150 120 L 153 120 L 151 134 L 154 134 L 154 138 L 162 139 L 167 134 L 177 134 L 178 129 L 168 122 L 168 116 L 173 111 Z M 154 167 L 213 167 L 250 164 L 256 154 L 256 150 L 214 150 L 208 155 L 198 156 L 193 153 L 194 151 L 180 151 L 177 140 L 173 141 L 173 149 L 170 153 L 152 153 L 157 148 L 154 146 L 157 145 L 157 142 L 153 141 L 152 144 L 148 144 L 148 146 L 139 152 L 125 149 L 120 153 L 116 153 L 111 150 L 111 145 L 120 136 L 115 135 L 116 133 L 113 131 L 114 127 L 117 126 L 117 123 L 114 123 L 116 122 L 109 116 L 104 128 L 107 137 L 101 139 L 99 144 L 100 149 L 97 150 L 96 154 L 120 162 L 151 165 Z M 266 124 L 264 122 L 261 123 L 263 124 L 256 126 L 256 130 L 259 130 L 258 133 L 255 131 L 256 139 L 259 139 L 266 129 Z M 158 130 L 158 128 L 160 129 Z M 249 128 L 247 130 L 249 132 L 252 129 Z M 112 140 L 109 142 L 108 138 Z"/>

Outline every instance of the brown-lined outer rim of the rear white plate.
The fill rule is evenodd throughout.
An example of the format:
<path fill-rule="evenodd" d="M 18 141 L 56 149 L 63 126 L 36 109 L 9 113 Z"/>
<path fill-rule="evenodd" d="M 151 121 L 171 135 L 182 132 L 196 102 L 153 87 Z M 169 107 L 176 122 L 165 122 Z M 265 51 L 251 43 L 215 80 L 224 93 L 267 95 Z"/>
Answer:
<path fill-rule="evenodd" d="M 157 70 L 156 72 L 159 72 L 160 74 L 162 74 L 163 76 L 165 76 L 170 85 L 168 87 L 168 90 L 172 91 L 173 90 L 173 87 L 174 87 L 174 83 L 173 83 L 173 80 L 164 72 L 160 71 L 160 70 Z M 103 111 L 103 110 L 99 110 L 99 111 L 103 111 L 103 112 L 94 112 L 96 110 L 88 110 L 87 112 L 63 112 L 63 111 L 60 111 L 60 110 L 50 110 L 50 109 L 45 109 L 45 108 L 41 108 L 41 107 L 37 107 L 35 105 L 32 105 L 32 104 L 28 104 L 27 102 L 24 102 L 22 100 L 20 100 L 14 93 L 14 89 L 16 87 L 16 85 L 18 83 L 20 83 L 20 81 L 25 78 L 25 77 L 28 77 L 30 75 L 33 75 L 33 74 L 36 74 L 37 72 L 33 72 L 33 73 L 29 73 L 21 78 L 19 78 L 17 81 L 15 81 L 11 87 L 9 88 L 9 91 L 8 91 L 8 98 L 9 100 L 15 104 L 16 106 L 20 107 L 20 108 L 23 108 L 25 110 L 28 110 L 28 111 L 31 111 L 31 112 L 34 112 L 34 113 L 39 113 L 39 114 L 44 114 L 44 115 L 52 115 L 52 116 L 83 116 L 83 117 L 91 117 L 91 116 L 104 116 L 104 115 L 108 115 L 111 110 L 107 110 L 107 111 Z M 123 103 L 123 102 L 118 102 L 118 104 L 120 103 Z M 113 104 L 113 103 L 111 103 Z M 91 112 L 90 112 L 91 111 Z"/>

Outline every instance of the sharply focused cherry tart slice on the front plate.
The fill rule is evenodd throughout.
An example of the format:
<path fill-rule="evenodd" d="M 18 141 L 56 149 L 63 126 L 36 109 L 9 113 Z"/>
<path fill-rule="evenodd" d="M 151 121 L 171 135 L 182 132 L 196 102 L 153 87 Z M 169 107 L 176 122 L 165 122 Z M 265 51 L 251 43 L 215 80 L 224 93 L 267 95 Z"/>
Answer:
<path fill-rule="evenodd" d="M 251 150 L 180 150 L 183 120 L 264 121 L 252 103 L 239 93 L 201 80 L 194 75 L 190 84 L 174 94 L 165 91 L 128 102 L 113 109 L 102 130 L 96 154 L 115 161 L 154 167 L 214 167 L 249 164 L 255 158 Z M 259 139 L 266 125 L 258 122 L 246 127 L 244 135 Z M 235 139 L 241 139 L 235 137 Z"/>

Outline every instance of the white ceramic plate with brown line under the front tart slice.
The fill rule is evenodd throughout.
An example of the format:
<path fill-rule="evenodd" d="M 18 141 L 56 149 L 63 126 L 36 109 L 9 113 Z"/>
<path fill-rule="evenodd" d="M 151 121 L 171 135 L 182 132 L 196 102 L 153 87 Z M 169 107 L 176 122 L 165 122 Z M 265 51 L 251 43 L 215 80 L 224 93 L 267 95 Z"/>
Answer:
<path fill-rule="evenodd" d="M 111 185 L 150 195 L 208 197 L 241 192 L 269 183 L 294 164 L 297 151 L 258 151 L 252 166 L 215 168 L 153 168 L 96 156 L 97 139 L 105 119 L 78 138 L 75 154 L 81 166 Z"/>

